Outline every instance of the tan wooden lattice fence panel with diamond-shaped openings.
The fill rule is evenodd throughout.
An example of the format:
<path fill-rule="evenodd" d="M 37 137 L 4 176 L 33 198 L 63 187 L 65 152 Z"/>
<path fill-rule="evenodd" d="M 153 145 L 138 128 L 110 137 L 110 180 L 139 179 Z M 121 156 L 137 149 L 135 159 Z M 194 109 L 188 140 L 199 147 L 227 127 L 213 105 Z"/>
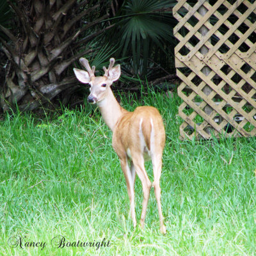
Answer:
<path fill-rule="evenodd" d="M 180 136 L 255 136 L 256 1 L 193 2 L 173 8 Z"/>

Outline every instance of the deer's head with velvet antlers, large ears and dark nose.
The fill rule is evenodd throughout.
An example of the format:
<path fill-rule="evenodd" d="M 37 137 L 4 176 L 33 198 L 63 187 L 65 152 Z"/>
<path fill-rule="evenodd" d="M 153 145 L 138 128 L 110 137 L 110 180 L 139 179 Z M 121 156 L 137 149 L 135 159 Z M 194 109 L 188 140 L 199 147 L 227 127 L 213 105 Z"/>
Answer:
<path fill-rule="evenodd" d="M 111 84 L 120 77 L 120 65 L 113 67 L 115 59 L 111 58 L 109 60 L 109 67 L 103 67 L 105 72 L 104 76 L 95 77 L 95 66 L 91 68 L 88 60 L 84 58 L 81 58 L 80 62 L 86 68 L 87 72 L 77 68 L 74 68 L 74 72 L 81 83 L 90 84 L 90 95 L 87 100 L 92 104 L 100 102 L 108 95 L 108 91 L 111 90 Z"/>

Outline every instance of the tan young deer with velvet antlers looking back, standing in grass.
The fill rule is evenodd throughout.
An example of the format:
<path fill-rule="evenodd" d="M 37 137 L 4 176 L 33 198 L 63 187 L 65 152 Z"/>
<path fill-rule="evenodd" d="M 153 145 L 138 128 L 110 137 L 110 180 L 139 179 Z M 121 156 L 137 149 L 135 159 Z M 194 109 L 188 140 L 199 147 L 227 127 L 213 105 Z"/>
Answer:
<path fill-rule="evenodd" d="M 112 146 L 119 157 L 127 184 L 134 228 L 137 224 L 134 205 L 134 183 L 137 174 L 143 189 L 141 228 L 143 229 L 145 225 L 150 189 L 154 187 L 160 231 L 162 234 L 166 234 L 160 188 L 165 131 L 159 111 L 152 106 L 140 106 L 133 112 L 129 112 L 120 106 L 111 90 L 111 85 L 119 79 L 121 74 L 120 65 L 114 67 L 114 58 L 109 60 L 108 68 L 103 67 L 104 76 L 95 76 L 95 66 L 91 68 L 85 58 L 80 58 L 79 61 L 86 71 L 74 68 L 74 73 L 81 83 L 90 85 L 90 95 L 87 100 L 90 104 L 97 104 L 104 122 L 113 132 Z M 154 182 L 152 183 L 145 170 L 145 161 L 150 159 L 154 174 Z"/>

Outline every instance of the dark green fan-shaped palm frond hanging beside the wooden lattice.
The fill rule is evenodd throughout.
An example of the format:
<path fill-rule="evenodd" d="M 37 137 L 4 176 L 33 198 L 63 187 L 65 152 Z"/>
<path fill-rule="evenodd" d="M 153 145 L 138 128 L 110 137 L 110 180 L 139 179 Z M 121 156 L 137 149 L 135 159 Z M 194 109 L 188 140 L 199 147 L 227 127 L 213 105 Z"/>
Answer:
<path fill-rule="evenodd" d="M 174 0 L 125 0 L 113 1 L 111 8 L 116 26 L 111 38 L 118 45 L 119 56 L 129 58 L 131 73 L 149 75 L 148 60 L 156 63 L 167 61 L 173 51 L 172 28 L 177 21 L 172 16 Z M 172 46 L 171 46 L 172 45 Z M 170 49 L 172 49 L 170 51 Z M 166 60 L 164 60 L 166 58 Z"/>

